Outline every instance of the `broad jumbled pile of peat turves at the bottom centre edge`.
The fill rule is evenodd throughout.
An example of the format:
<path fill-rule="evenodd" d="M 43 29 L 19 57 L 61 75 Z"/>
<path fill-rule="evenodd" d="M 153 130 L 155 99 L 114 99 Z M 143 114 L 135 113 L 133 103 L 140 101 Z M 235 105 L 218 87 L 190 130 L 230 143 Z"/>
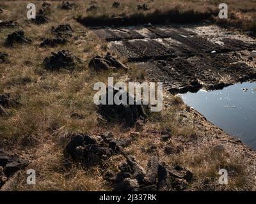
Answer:
<path fill-rule="evenodd" d="M 184 191 L 193 178 L 191 171 L 159 163 L 157 157 L 148 161 L 147 171 L 132 156 L 118 168 L 118 173 L 108 170 L 105 174 L 116 191 Z"/>

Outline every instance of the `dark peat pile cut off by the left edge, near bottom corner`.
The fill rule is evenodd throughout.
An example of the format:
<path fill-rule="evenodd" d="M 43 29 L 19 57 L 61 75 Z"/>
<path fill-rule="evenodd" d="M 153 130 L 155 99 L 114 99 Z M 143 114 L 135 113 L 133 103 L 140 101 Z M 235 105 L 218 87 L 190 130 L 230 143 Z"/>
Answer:
<path fill-rule="evenodd" d="M 12 175 L 28 166 L 28 161 L 12 156 L 0 149 L 0 187 L 2 187 Z"/>

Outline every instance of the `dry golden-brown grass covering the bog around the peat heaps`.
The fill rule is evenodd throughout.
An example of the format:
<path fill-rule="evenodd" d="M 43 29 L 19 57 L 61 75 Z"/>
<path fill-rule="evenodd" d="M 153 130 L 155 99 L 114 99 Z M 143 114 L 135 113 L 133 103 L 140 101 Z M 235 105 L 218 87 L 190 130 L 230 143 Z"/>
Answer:
<path fill-rule="evenodd" d="M 29 1 L 30 2 L 30 1 Z M 130 15 L 136 13 L 136 4 L 143 1 L 124 1 L 121 9 L 111 8 L 109 1 L 98 1 L 100 8 L 89 15 Z M 230 1 L 232 2 L 232 1 Z M 248 1 L 250 8 L 255 8 L 255 1 Z M 42 2 L 35 1 L 40 6 Z M 153 129 L 159 133 L 162 129 L 172 128 L 173 135 L 179 136 L 185 142 L 190 142 L 200 135 L 200 131 L 193 126 L 180 124 L 180 117 L 176 112 L 184 110 L 186 105 L 180 99 L 170 96 L 165 98 L 166 106 L 161 114 L 152 115 L 143 129 L 123 129 L 114 124 L 100 122 L 97 107 L 93 104 L 92 85 L 95 82 L 106 82 L 107 77 L 114 76 L 116 80 L 132 80 L 144 77 L 134 66 L 134 71 L 129 71 L 129 77 L 122 71 L 118 73 L 101 73 L 97 75 L 88 69 L 88 61 L 94 55 L 106 52 L 106 43 L 102 42 L 86 27 L 81 26 L 73 17 L 87 15 L 86 8 L 89 3 L 76 1 L 83 5 L 75 11 L 63 11 L 58 8 L 60 2 L 52 2 L 51 22 L 44 25 L 34 25 L 26 20 L 26 2 L 24 1 L 1 1 L 1 8 L 4 13 L 0 14 L 1 20 L 18 20 L 26 35 L 33 40 L 31 45 L 20 45 L 14 48 L 4 47 L 4 39 L 14 29 L 4 29 L 0 32 L 0 51 L 10 55 L 10 64 L 1 64 L 0 67 L 0 92 L 10 92 L 14 98 L 19 98 L 22 106 L 7 110 L 10 117 L 0 117 L 0 147 L 17 153 L 29 159 L 29 168 L 36 170 L 36 186 L 26 185 L 26 173 L 22 174 L 19 180 L 18 190 L 75 190 L 75 191 L 98 191 L 108 190 L 109 186 L 102 178 L 102 170 L 98 166 L 83 170 L 80 166 L 67 168 L 63 162 L 63 148 L 68 143 L 68 133 L 88 132 L 92 135 L 111 130 L 115 137 L 129 136 L 134 131 L 140 131 L 138 142 L 129 147 L 127 151 L 134 154 L 141 165 L 145 166 L 148 155 L 141 152 L 141 148 L 148 148 L 149 144 L 156 143 L 159 149 L 159 156 L 166 163 L 181 163 L 191 168 L 195 173 L 196 180 L 191 184 L 191 189 L 227 190 L 227 189 L 252 189 L 246 175 L 248 168 L 243 166 L 246 163 L 243 156 L 239 154 L 221 154 L 212 156 L 211 149 L 198 149 L 191 154 L 188 150 L 174 156 L 165 156 L 163 153 L 164 143 L 161 143 Z M 159 0 L 150 3 L 150 11 L 155 9 L 195 9 L 208 10 L 206 4 L 218 4 L 218 1 L 166 1 Z M 198 6 L 199 5 L 199 6 Z M 238 13 L 244 8 L 243 4 L 232 4 Z M 230 4 L 231 6 L 231 4 Z M 212 6 L 210 6 L 212 7 Z M 252 12 L 253 13 L 253 12 Z M 252 16 L 248 13 L 248 16 Z M 51 27 L 58 24 L 70 24 L 74 29 L 74 36 L 66 46 L 56 48 L 39 48 L 42 36 L 51 36 Z M 83 59 L 83 68 L 72 72 L 61 70 L 50 72 L 42 67 L 44 58 L 57 52 L 68 49 Z M 135 74 L 134 74 L 135 73 Z M 168 107 L 168 108 L 167 108 Z M 71 119 L 73 112 L 81 113 L 86 119 Z M 175 142 L 173 142 L 175 143 Z M 185 144 L 183 144 L 185 145 Z M 114 156 L 110 159 L 109 168 L 116 169 L 116 164 L 124 159 L 122 156 Z M 236 161 L 236 162 L 234 162 Z M 216 185 L 216 176 L 220 166 L 227 166 L 238 172 L 228 186 Z"/>

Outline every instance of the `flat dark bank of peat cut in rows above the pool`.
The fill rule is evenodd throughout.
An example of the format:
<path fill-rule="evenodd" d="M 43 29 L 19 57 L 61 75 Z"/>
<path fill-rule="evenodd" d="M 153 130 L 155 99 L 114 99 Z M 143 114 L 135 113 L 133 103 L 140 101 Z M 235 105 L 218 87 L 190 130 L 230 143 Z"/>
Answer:
<path fill-rule="evenodd" d="M 92 28 L 110 50 L 145 69 L 172 92 L 223 89 L 255 81 L 256 41 L 216 25 Z"/>

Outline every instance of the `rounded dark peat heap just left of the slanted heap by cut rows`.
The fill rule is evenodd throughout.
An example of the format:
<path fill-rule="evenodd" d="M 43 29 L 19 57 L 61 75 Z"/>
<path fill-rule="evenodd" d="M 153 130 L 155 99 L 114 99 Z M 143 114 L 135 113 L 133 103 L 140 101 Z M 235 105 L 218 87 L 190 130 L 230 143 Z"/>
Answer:
<path fill-rule="evenodd" d="M 45 68 L 52 71 L 60 68 L 74 69 L 79 63 L 81 60 L 68 50 L 61 50 L 58 53 L 52 52 L 52 55 L 44 60 Z"/>

